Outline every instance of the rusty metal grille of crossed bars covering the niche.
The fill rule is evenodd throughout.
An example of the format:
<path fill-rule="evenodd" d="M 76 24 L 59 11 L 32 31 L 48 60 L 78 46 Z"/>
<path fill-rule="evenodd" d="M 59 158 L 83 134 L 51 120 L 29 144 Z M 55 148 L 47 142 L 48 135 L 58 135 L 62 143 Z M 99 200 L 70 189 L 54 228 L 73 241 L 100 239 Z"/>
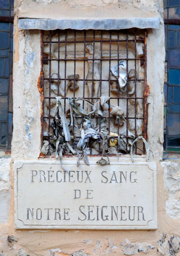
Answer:
<path fill-rule="evenodd" d="M 72 37 L 72 33 L 73 33 L 73 37 Z M 98 33 L 98 36 L 97 36 Z M 124 38 L 122 38 L 122 33 L 124 35 Z M 56 34 L 56 36 L 54 36 Z M 71 34 L 71 36 L 69 36 L 69 34 Z M 81 35 L 81 37 L 77 36 L 77 35 Z M 91 36 L 89 36 L 91 34 Z M 108 36 L 107 36 L 108 34 Z M 63 35 L 63 36 L 62 36 Z M 106 35 L 106 36 L 105 36 Z M 115 36 L 116 35 L 116 36 Z M 83 99 L 87 99 L 90 100 L 91 102 L 95 102 L 100 100 L 101 96 L 103 95 L 103 93 L 106 93 L 106 96 L 110 97 L 110 100 L 108 102 L 109 104 L 109 111 L 108 111 L 108 115 L 104 116 L 104 118 L 106 118 L 107 120 L 107 129 L 110 132 L 110 127 L 111 127 L 111 119 L 113 119 L 114 117 L 111 116 L 110 113 L 110 108 L 111 108 L 111 102 L 116 100 L 116 104 L 118 106 L 121 106 L 121 101 L 124 100 L 126 101 L 126 115 L 124 117 L 121 117 L 120 119 L 118 119 L 118 124 L 117 124 L 117 133 L 118 135 L 120 134 L 120 122 L 121 120 L 126 120 L 126 122 L 124 123 L 124 127 L 126 126 L 126 135 L 124 136 L 127 140 L 128 143 L 128 127 L 129 127 L 129 120 L 134 120 L 134 124 L 135 124 L 135 138 L 138 137 L 137 134 L 137 120 L 142 120 L 142 136 L 146 139 L 146 126 L 147 126 L 147 108 L 146 108 L 146 100 L 147 100 L 147 95 L 149 92 L 149 88 L 147 85 L 147 81 L 146 81 L 146 31 L 145 30 L 136 30 L 136 29 L 131 29 L 131 30 L 121 30 L 121 31 L 96 31 L 96 30 L 91 30 L 91 31 L 77 31 L 77 30 L 57 30 L 57 31 L 41 31 L 41 76 L 40 76 L 40 81 L 39 81 L 39 90 L 41 92 L 41 100 L 42 100 L 42 141 L 43 140 L 47 140 L 49 141 L 49 133 L 50 133 L 50 127 L 51 127 L 51 123 L 53 120 L 53 116 L 51 116 L 51 101 L 53 99 L 55 99 L 54 95 L 52 96 L 51 94 L 51 85 L 52 85 L 52 81 L 57 81 L 57 96 L 59 96 L 60 93 L 60 88 L 61 85 L 63 83 L 64 88 L 63 88 L 63 95 L 62 99 L 64 99 L 64 114 L 66 115 L 66 118 L 69 119 L 69 116 L 67 115 L 67 99 L 68 99 L 68 95 L 67 95 L 67 86 L 68 84 L 71 82 L 71 91 L 72 91 L 72 98 L 77 98 L 77 93 L 76 93 L 76 83 L 79 82 L 81 83 L 81 88 L 79 88 L 80 90 L 80 94 L 78 95 L 78 97 L 83 98 Z M 107 38 L 108 37 L 108 38 Z M 69 50 L 68 50 L 68 44 L 71 45 L 71 54 L 69 54 Z M 81 44 L 81 47 L 83 47 L 83 56 L 78 57 L 78 47 L 79 44 Z M 86 45 L 87 44 L 91 44 L 92 45 L 92 56 L 91 58 L 88 58 L 87 54 L 86 54 Z M 100 47 L 100 51 L 99 51 L 99 56 L 96 56 L 96 51 L 95 51 L 95 45 L 99 44 Z M 106 44 L 106 47 L 108 45 L 108 57 L 107 54 L 104 57 L 103 56 L 103 47 L 104 44 Z M 138 45 L 142 45 L 142 49 L 143 49 L 143 54 L 140 57 L 137 57 L 137 44 Z M 54 56 L 53 54 L 53 49 L 54 49 L 54 45 L 56 45 L 56 55 Z M 63 54 L 64 56 L 61 57 L 61 45 L 63 45 L 64 50 L 63 50 Z M 113 52 L 113 47 L 117 47 L 117 54 L 112 54 Z M 120 52 L 121 52 L 121 48 L 123 47 L 126 49 L 125 50 L 125 56 L 121 56 Z M 130 56 L 130 46 L 131 48 L 133 47 L 133 51 L 134 51 L 134 56 Z M 72 48 L 73 48 L 73 53 L 72 53 Z M 47 52 L 48 49 L 48 52 Z M 106 50 L 107 53 L 107 50 Z M 116 56 L 114 56 L 116 55 Z M 112 78 L 112 74 L 111 74 L 111 66 L 112 66 L 112 62 L 116 64 L 118 64 L 121 60 L 125 60 L 126 61 L 126 72 L 127 72 L 127 86 L 126 86 L 126 93 L 125 95 L 121 95 L 120 93 L 120 88 L 119 86 L 117 86 L 117 95 L 113 95 L 111 93 L 111 89 L 112 89 L 112 83 L 113 82 L 117 82 L 117 79 L 113 79 Z M 92 62 L 92 78 L 88 79 L 87 77 L 87 68 L 86 68 L 86 64 L 88 61 Z M 99 77 L 97 78 L 95 76 L 95 65 L 97 64 L 98 61 L 98 65 L 99 65 Z M 80 64 L 79 64 L 79 63 Z M 106 66 L 108 63 L 108 77 L 104 77 L 103 75 L 103 63 L 106 62 Z M 135 69 L 135 77 L 133 79 L 130 79 L 128 77 L 128 72 L 129 72 L 129 63 L 134 63 L 134 69 Z M 55 63 L 55 64 L 54 64 Z M 67 75 L 67 66 L 68 63 L 71 63 L 70 65 L 72 65 L 73 63 L 73 72 L 71 71 L 71 73 L 73 73 L 73 75 Z M 96 63 L 96 64 L 95 64 Z M 144 76 L 143 78 L 141 77 L 139 79 L 139 76 L 137 74 L 137 65 L 140 66 L 141 68 L 143 68 L 144 70 Z M 57 69 L 57 77 L 52 77 L 52 66 L 56 66 Z M 78 69 L 81 70 L 81 75 L 77 75 L 77 66 Z M 47 71 L 48 69 L 48 71 Z M 46 72 L 45 72 L 46 70 Z M 60 72 L 63 71 L 63 76 L 60 75 Z M 119 69 L 118 69 L 118 77 L 119 77 Z M 92 84 L 94 84 L 94 82 L 97 81 L 99 83 L 99 91 L 98 91 L 98 95 L 94 95 L 93 93 L 93 86 L 92 86 L 92 91 L 89 92 L 89 95 L 87 97 L 87 93 L 86 93 L 86 83 L 87 82 L 91 82 Z M 134 94 L 133 95 L 129 95 L 128 93 L 128 86 L 129 86 L 129 82 L 133 82 L 134 83 Z M 103 83 L 106 82 L 108 83 L 108 91 L 107 92 L 103 92 Z M 141 97 L 139 97 L 137 95 L 137 90 L 138 90 L 138 84 L 139 82 L 141 84 L 143 84 L 143 91 L 142 91 L 142 95 Z M 45 88 L 44 87 L 48 87 L 48 95 L 45 95 Z M 73 89 L 72 89 L 73 88 Z M 135 101 L 135 106 L 137 104 L 138 100 L 142 100 L 142 117 L 137 117 L 137 110 L 135 107 L 135 111 L 134 111 L 134 115 L 130 116 L 129 115 L 129 101 L 134 100 Z M 46 101 L 46 103 L 45 103 Z M 45 112 L 43 112 L 43 104 L 47 104 L 48 101 L 48 113 L 45 115 Z M 85 101 L 83 101 L 82 103 L 82 108 L 85 108 Z M 92 109 L 92 107 L 91 107 Z M 44 113 L 44 114 L 43 114 Z M 92 117 L 94 118 L 94 117 Z M 96 116 L 97 119 L 99 119 L 99 130 L 101 130 L 101 118 L 99 116 Z M 83 117 L 80 116 L 76 116 L 76 119 L 83 119 Z M 46 121 L 45 121 L 46 120 Z M 45 129 L 44 126 L 44 122 L 47 123 L 47 131 L 48 134 L 44 134 L 43 135 L 43 127 Z M 74 122 L 73 122 L 73 127 L 72 127 L 72 145 L 73 142 L 77 139 L 80 139 L 80 136 L 75 136 L 74 135 Z M 114 139 L 117 139 L 117 137 L 115 136 Z M 91 145 L 91 140 L 89 142 L 89 148 L 90 148 L 90 154 L 92 154 L 92 145 Z M 109 143 L 108 143 L 109 146 Z M 126 152 L 124 153 L 129 153 L 128 152 L 128 148 L 126 147 Z M 138 148 L 138 146 L 135 143 L 135 154 L 144 154 L 145 153 L 145 148 L 144 146 L 141 145 L 141 149 Z M 48 152 L 47 156 L 49 156 L 50 153 Z M 100 146 L 99 146 L 99 154 L 100 155 Z M 45 156 L 43 156 L 45 157 Z"/>

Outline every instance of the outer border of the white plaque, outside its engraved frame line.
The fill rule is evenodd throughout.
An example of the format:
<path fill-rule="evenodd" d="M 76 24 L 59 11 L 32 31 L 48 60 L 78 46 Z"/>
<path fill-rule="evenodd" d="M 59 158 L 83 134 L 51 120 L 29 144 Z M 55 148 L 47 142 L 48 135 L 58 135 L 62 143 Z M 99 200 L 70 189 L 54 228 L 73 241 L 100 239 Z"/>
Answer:
<path fill-rule="evenodd" d="M 89 161 L 90 165 L 97 165 L 94 157 L 93 160 L 95 161 Z M 60 161 L 44 161 L 44 160 L 15 160 L 14 161 L 14 201 L 15 201 L 15 212 L 14 212 L 14 219 L 15 219 L 15 228 L 16 229 L 77 229 L 77 226 L 41 226 L 41 228 L 37 226 L 32 226 L 32 225 L 24 225 L 24 222 L 20 219 L 18 219 L 18 171 L 23 168 L 23 165 L 25 164 L 55 164 L 60 166 Z M 64 160 L 63 165 L 76 165 L 76 161 L 71 161 L 69 160 Z M 83 161 L 80 161 L 80 164 L 85 165 Z M 146 225 L 144 226 L 96 226 L 96 225 L 84 225 L 84 226 L 78 226 L 78 229 L 108 229 L 108 230 L 139 230 L 139 229 L 157 229 L 157 185 L 156 185 L 156 163 L 155 162 L 114 162 L 112 165 L 144 165 L 148 166 L 149 170 L 153 172 L 153 220 L 149 220 Z"/>

